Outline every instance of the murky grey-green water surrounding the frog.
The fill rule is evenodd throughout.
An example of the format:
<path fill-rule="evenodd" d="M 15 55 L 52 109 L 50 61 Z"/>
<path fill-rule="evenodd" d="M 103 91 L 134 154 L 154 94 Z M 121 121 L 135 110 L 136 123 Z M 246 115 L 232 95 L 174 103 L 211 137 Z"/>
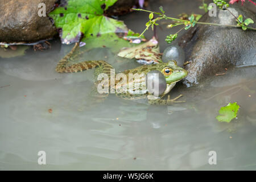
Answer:
<path fill-rule="evenodd" d="M 150 6 L 164 5 L 170 15 L 202 13 L 200 1 L 179 2 Z M 141 32 L 147 17 L 134 13 L 121 19 Z M 170 34 L 164 27 L 159 30 L 162 50 Z M 177 85 L 171 97 L 182 93 L 185 104 L 149 106 L 110 96 L 95 106 L 88 96 L 93 70 L 55 72 L 68 49 L 53 41 L 49 51 L 1 58 L 0 169 L 256 169 L 255 67 L 230 69 L 197 88 Z M 117 71 L 139 65 L 104 48 L 85 57 L 104 59 Z M 238 118 L 219 123 L 220 107 L 234 101 L 241 106 Z M 46 151 L 46 165 L 38 164 L 39 151 Z M 216 151 L 216 165 L 208 163 L 210 151 Z"/>

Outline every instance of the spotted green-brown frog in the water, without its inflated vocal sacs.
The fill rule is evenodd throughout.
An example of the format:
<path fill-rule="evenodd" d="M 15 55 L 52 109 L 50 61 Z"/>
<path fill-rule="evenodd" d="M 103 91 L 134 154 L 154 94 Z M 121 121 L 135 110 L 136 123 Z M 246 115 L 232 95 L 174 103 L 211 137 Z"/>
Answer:
<path fill-rule="evenodd" d="M 62 60 L 60 60 L 59 64 L 57 64 L 56 66 L 56 71 L 59 73 L 74 73 L 74 72 L 82 72 L 87 69 L 96 68 L 96 71 L 95 71 L 96 77 L 100 73 L 105 73 L 106 75 L 108 75 L 109 79 L 104 79 L 105 83 L 102 80 L 96 81 L 93 89 L 93 95 L 100 96 L 101 98 L 105 98 L 106 96 L 108 96 L 108 93 L 100 94 L 97 92 L 98 91 L 97 88 L 99 88 L 100 84 L 101 86 L 105 84 L 109 85 L 109 88 L 110 88 L 111 86 L 110 72 L 111 72 L 111 69 L 114 69 L 114 68 L 112 67 L 112 65 L 102 60 L 82 61 L 80 63 L 67 65 L 68 60 L 71 57 L 74 50 L 76 49 L 76 47 L 78 47 L 78 44 L 76 44 L 76 46 L 72 49 L 72 51 L 67 56 L 65 56 Z M 146 75 L 148 72 L 152 72 L 152 71 L 153 72 L 158 71 L 160 74 L 162 73 L 166 81 L 166 89 L 159 96 L 153 96 L 152 93 L 148 92 L 148 89 L 146 86 Z M 147 98 L 149 104 L 156 104 L 156 105 L 170 105 L 170 104 L 173 104 L 174 102 L 183 102 L 183 101 L 176 101 L 182 95 L 172 100 L 168 96 L 167 100 L 163 100 L 163 97 L 168 92 L 170 92 L 170 90 L 175 86 L 176 82 L 180 81 L 182 78 L 186 77 L 188 74 L 188 72 L 185 69 L 177 66 L 177 63 L 174 60 L 168 61 L 168 63 L 142 65 L 141 67 L 129 69 L 129 70 L 123 71 L 122 73 L 123 73 L 122 75 L 126 76 L 127 79 L 124 79 L 123 76 L 119 77 L 118 79 L 117 78 L 118 75 L 115 75 L 116 77 L 114 81 L 115 82 L 114 93 L 119 97 L 130 99 L 130 100 Z M 130 78 L 130 74 L 139 75 L 139 76 Z M 130 86 L 129 84 L 131 82 L 137 84 L 137 87 L 135 87 L 136 90 L 134 88 L 129 89 L 129 86 Z"/>

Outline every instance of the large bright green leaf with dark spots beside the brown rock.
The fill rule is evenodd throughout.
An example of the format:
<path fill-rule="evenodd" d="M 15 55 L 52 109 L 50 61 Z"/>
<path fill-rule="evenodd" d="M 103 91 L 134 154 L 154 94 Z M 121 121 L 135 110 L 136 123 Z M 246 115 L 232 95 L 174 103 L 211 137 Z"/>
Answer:
<path fill-rule="evenodd" d="M 49 16 L 60 30 L 64 44 L 79 42 L 88 43 L 89 39 L 101 36 L 113 40 L 129 31 L 121 21 L 104 16 L 104 11 L 117 0 L 67 0 L 60 4 Z M 109 39 L 109 40 L 112 40 Z"/>

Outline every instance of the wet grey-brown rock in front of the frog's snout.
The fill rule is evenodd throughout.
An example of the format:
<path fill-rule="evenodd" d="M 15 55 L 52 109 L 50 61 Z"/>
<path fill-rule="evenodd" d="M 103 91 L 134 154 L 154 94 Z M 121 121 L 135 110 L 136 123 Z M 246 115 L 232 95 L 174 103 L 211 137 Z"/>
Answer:
<path fill-rule="evenodd" d="M 256 14 L 242 6 L 231 6 L 230 11 L 235 16 L 243 15 L 243 20 L 256 20 Z M 205 14 L 200 22 L 233 24 L 236 19 L 228 10 L 217 10 L 217 16 Z M 256 27 L 255 23 L 250 27 Z M 199 84 L 209 75 L 225 72 L 225 68 L 244 65 L 256 65 L 256 31 L 233 27 L 196 25 L 181 38 L 179 45 L 186 53 L 185 66 L 188 76 L 184 84 L 192 86 Z"/>

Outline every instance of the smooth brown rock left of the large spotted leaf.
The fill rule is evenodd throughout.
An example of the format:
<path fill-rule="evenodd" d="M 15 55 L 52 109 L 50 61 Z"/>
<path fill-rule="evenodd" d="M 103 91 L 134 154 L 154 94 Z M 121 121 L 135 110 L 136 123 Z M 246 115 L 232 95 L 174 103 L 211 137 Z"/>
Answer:
<path fill-rule="evenodd" d="M 35 43 L 56 34 L 47 16 L 40 17 L 39 3 L 46 4 L 46 14 L 55 6 L 56 0 L 1 0 L 0 42 L 10 44 Z"/>

